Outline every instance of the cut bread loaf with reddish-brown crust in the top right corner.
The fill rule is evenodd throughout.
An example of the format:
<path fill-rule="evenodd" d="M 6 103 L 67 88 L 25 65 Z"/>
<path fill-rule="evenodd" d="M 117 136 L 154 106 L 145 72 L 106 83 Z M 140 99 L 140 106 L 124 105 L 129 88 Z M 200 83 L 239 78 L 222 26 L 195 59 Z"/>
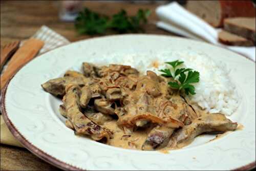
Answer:
<path fill-rule="evenodd" d="M 255 17 L 251 1 L 187 1 L 186 8 L 214 27 L 229 17 Z"/>

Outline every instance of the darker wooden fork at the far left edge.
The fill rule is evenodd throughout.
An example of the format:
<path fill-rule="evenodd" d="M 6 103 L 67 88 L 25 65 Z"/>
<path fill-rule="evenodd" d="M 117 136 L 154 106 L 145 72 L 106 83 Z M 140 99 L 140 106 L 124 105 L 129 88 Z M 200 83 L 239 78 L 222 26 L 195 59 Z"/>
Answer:
<path fill-rule="evenodd" d="M 0 72 L 3 69 L 3 66 L 5 65 L 7 59 L 9 59 L 18 49 L 20 41 L 14 41 L 10 44 L 7 44 L 4 46 L 3 49 L 1 49 L 1 57 L 0 57 Z"/>

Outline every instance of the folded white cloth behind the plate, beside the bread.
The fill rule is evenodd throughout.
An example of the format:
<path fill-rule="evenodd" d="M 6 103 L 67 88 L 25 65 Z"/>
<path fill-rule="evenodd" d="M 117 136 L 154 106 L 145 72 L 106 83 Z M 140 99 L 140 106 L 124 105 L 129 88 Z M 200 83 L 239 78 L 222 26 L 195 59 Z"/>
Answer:
<path fill-rule="evenodd" d="M 211 44 L 225 47 L 255 61 L 255 46 L 238 47 L 221 44 L 218 42 L 218 32 L 221 29 L 210 26 L 203 19 L 188 12 L 176 2 L 158 7 L 156 14 L 160 19 L 157 23 L 159 28 L 188 38 L 207 41 Z"/>

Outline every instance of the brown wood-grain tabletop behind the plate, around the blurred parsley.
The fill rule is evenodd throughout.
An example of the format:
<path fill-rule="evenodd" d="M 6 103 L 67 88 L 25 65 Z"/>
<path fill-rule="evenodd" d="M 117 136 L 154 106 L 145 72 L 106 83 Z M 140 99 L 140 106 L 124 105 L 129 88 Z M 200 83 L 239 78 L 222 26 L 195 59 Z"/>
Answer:
<path fill-rule="evenodd" d="M 29 38 L 42 25 L 46 25 L 54 31 L 68 38 L 70 41 L 86 39 L 90 35 L 78 35 L 73 23 L 62 22 L 58 18 L 58 2 L 52 1 L 1 1 L 1 46 L 14 40 Z M 112 15 L 124 9 L 129 15 L 135 15 L 139 8 L 150 9 L 152 15 L 145 26 L 147 34 L 173 35 L 158 29 L 154 23 L 158 20 L 155 14 L 155 4 L 130 4 L 130 3 L 102 3 L 85 2 L 87 7 L 96 12 Z"/>

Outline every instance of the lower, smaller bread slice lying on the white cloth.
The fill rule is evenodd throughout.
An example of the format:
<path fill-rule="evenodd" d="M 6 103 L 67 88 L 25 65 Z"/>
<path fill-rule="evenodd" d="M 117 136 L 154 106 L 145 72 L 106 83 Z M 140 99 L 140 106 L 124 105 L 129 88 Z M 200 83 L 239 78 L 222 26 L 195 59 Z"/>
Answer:
<path fill-rule="evenodd" d="M 219 41 L 225 45 L 232 46 L 253 46 L 253 42 L 244 37 L 238 36 L 236 34 L 229 33 L 227 31 L 219 32 Z"/>

